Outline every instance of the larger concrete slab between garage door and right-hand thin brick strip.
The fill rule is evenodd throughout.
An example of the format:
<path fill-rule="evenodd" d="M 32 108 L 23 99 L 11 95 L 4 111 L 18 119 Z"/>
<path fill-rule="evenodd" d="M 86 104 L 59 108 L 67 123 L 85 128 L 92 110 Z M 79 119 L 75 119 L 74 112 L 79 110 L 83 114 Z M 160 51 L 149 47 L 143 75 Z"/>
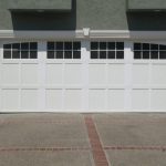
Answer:
<path fill-rule="evenodd" d="M 166 146 L 166 114 L 93 115 L 104 146 Z"/>

